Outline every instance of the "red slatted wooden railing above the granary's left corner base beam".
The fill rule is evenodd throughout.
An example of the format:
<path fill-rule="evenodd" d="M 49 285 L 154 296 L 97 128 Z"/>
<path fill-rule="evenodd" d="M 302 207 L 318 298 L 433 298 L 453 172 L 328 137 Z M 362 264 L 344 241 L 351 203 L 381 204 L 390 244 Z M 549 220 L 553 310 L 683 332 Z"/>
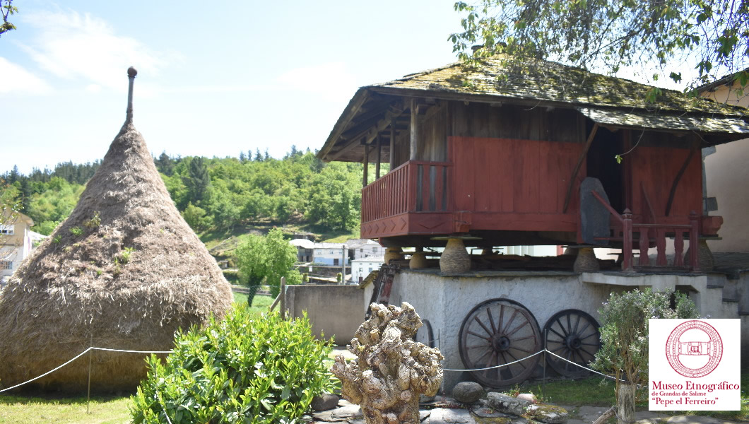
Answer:
<path fill-rule="evenodd" d="M 362 222 L 406 212 L 447 210 L 450 164 L 410 160 L 362 189 Z"/>

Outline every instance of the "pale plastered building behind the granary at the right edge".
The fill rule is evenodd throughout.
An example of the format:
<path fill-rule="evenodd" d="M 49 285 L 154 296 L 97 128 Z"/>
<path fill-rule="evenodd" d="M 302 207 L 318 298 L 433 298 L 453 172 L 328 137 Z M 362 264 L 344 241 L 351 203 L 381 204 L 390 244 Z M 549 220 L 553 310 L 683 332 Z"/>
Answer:
<path fill-rule="evenodd" d="M 749 68 L 744 70 L 749 71 Z M 701 97 L 732 106 L 749 107 L 749 87 L 741 88 L 735 75 L 724 76 L 697 88 Z M 709 240 L 712 252 L 749 252 L 749 226 L 746 212 L 749 192 L 737 190 L 749 179 L 749 139 L 703 149 L 705 158 L 706 211 L 724 217 L 722 240 Z M 715 198 L 715 202 L 712 202 Z"/>

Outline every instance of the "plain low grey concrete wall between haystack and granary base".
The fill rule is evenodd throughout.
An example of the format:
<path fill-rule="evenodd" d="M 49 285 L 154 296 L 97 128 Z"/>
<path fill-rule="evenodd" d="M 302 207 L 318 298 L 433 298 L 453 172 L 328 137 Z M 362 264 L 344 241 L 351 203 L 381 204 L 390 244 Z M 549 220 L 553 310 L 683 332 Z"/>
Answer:
<path fill-rule="evenodd" d="M 364 322 L 364 291 L 358 285 L 288 285 L 286 308 L 292 317 L 307 317 L 315 336 L 335 336 L 336 345 L 345 346 Z"/>

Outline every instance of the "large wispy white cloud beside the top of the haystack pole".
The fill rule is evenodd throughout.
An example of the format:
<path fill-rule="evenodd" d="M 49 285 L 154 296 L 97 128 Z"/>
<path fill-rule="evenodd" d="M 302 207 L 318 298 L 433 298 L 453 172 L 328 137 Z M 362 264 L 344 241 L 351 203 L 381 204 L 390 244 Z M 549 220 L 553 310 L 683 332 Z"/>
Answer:
<path fill-rule="evenodd" d="M 115 34 L 108 22 L 88 13 L 40 12 L 25 16 L 24 22 L 39 33 L 31 45 L 23 46 L 31 58 L 56 76 L 82 79 L 89 88 L 122 91 L 130 65 L 155 75 L 167 63 L 163 53 Z"/>

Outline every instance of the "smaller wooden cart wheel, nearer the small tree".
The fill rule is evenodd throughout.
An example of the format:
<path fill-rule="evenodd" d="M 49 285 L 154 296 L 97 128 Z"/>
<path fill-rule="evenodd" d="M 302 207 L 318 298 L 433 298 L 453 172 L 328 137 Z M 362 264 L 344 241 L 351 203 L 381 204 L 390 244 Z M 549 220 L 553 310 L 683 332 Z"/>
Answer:
<path fill-rule="evenodd" d="M 595 318 L 578 309 L 557 312 L 544 326 L 546 348 L 565 360 L 590 368 L 590 361 L 598 348 L 601 348 L 598 327 L 600 326 Z M 549 354 L 546 357 L 551 368 L 566 377 L 583 377 L 590 373 L 565 360 Z"/>

